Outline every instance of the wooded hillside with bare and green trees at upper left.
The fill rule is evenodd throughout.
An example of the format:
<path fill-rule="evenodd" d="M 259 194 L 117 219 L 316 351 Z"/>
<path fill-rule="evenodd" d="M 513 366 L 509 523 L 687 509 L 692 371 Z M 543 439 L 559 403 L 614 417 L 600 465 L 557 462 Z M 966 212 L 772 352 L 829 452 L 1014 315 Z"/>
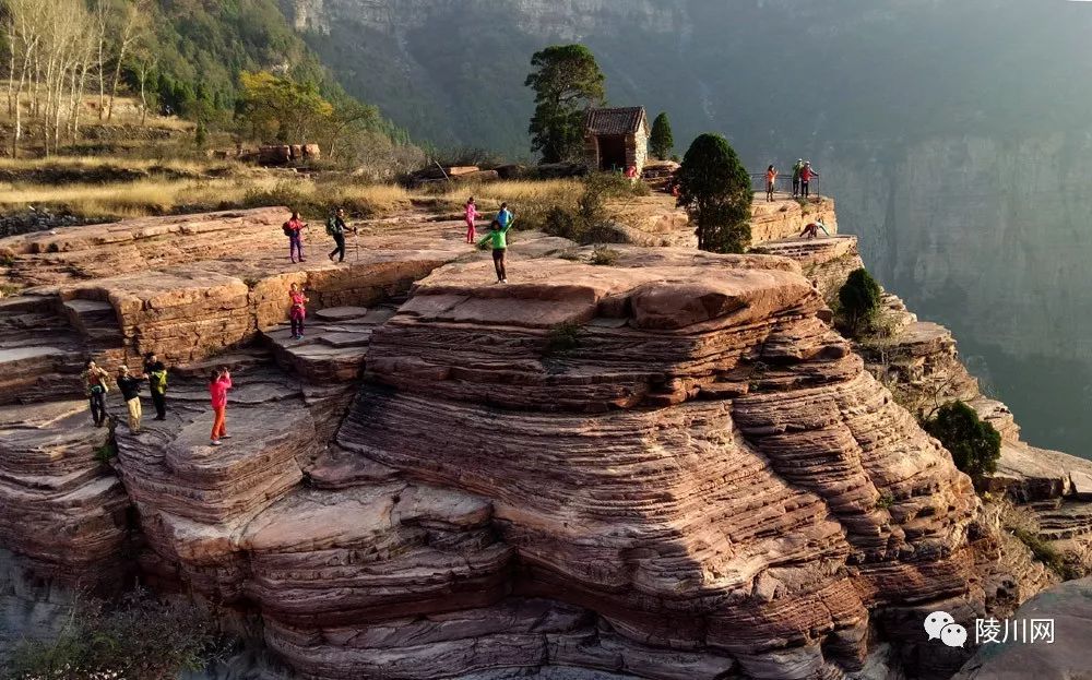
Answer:
<path fill-rule="evenodd" d="M 199 143 L 211 129 L 318 142 L 328 157 L 408 143 L 375 107 L 330 84 L 275 0 L 0 0 L 0 28 L 12 155 L 32 136 L 56 153 L 88 122 L 115 121 L 126 88 L 141 124 L 175 114 L 198 123 Z M 263 70 L 270 63 L 276 74 Z"/>

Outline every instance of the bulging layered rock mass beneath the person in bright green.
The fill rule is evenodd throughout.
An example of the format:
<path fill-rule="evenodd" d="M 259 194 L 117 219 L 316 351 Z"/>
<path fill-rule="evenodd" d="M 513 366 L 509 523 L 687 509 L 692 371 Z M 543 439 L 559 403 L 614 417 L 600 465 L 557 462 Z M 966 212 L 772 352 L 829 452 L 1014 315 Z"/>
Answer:
<path fill-rule="evenodd" d="M 869 609 L 981 600 L 966 477 L 819 321 L 819 294 L 779 271 L 792 267 L 708 260 L 542 260 L 506 287 L 477 285 L 480 265 L 434 274 L 373 335 L 373 385 L 340 445 L 488 499 L 511 594 L 720 671 L 858 669 Z M 310 648 L 270 643 L 347 677 L 324 665 L 344 632 L 322 630 Z M 475 669 L 461 658 L 451 675 Z"/>

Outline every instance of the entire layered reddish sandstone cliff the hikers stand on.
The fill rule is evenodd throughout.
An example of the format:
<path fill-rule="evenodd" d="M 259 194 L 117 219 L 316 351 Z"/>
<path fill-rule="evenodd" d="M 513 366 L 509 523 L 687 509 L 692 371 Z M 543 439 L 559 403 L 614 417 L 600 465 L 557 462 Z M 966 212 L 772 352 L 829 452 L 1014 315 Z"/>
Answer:
<path fill-rule="evenodd" d="M 282 216 L 0 242 L 31 286 L 0 308 L 26 402 L 0 407 L 0 498 L 27 510 L 0 513 L 0 541 L 38 573 L 102 575 L 143 547 L 146 581 L 257 616 L 316 679 L 945 677 L 962 656 L 927 644 L 927 612 L 1046 581 L 1026 554 L 997 566 L 970 480 L 900 405 L 959 373 L 950 336 L 905 324 L 903 384 L 831 330 L 852 238 L 595 265 L 524 232 L 500 285 L 424 218 L 419 251 L 380 229 L 351 264 L 289 266 Z M 280 325 L 292 282 L 304 341 Z M 119 425 L 107 465 L 74 374 L 145 349 L 171 360 L 170 413 Z M 222 365 L 233 438 L 212 449 Z M 1066 479 L 1052 498 L 1081 533 Z"/>

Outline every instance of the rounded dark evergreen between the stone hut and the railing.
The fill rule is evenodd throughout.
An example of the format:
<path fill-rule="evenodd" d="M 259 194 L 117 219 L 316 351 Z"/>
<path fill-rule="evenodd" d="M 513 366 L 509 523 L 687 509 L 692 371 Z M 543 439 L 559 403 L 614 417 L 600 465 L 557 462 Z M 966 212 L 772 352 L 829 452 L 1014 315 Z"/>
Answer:
<path fill-rule="evenodd" d="M 697 224 L 698 248 L 741 253 L 750 246 L 750 175 L 720 134 L 698 136 L 678 172 L 680 207 Z"/>

